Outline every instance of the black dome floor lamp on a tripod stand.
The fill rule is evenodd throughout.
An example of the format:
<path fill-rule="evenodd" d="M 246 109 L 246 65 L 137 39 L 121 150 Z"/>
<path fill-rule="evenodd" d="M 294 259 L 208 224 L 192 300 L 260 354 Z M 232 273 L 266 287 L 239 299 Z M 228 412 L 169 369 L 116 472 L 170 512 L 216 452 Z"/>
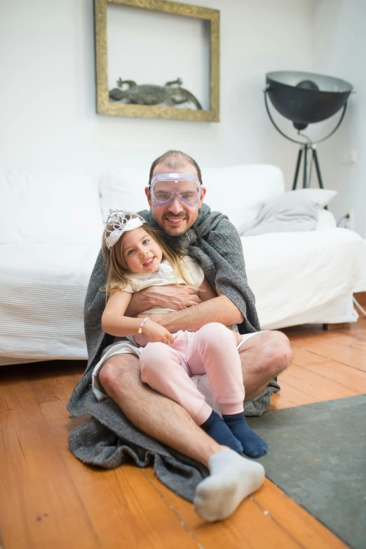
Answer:
<path fill-rule="evenodd" d="M 344 80 L 327 77 L 323 74 L 316 74 L 313 72 L 278 71 L 266 74 L 266 87 L 263 91 L 264 102 L 269 118 L 271 119 L 273 126 L 275 126 L 276 130 L 278 130 L 283 137 L 292 141 L 292 143 L 297 143 L 299 145 L 299 154 L 297 155 L 292 190 L 297 187 L 297 179 L 299 177 L 301 157 L 303 157 L 303 154 L 303 187 L 306 188 L 309 186 L 310 174 L 308 174 L 307 166 L 309 155 L 311 155 L 311 160 L 316 167 L 319 187 L 323 189 L 323 180 L 320 174 L 316 145 L 329 138 L 341 125 L 344 114 L 346 114 L 347 100 L 352 89 L 353 86 Z M 294 128 L 297 129 L 298 135 L 301 135 L 301 138 L 306 139 L 306 142 L 293 139 L 280 130 L 269 110 L 268 98 L 271 100 L 273 107 L 275 107 L 283 117 L 292 121 Z M 343 110 L 337 125 L 324 138 L 312 141 L 309 137 L 301 133 L 308 124 L 326 120 L 327 118 L 332 117 L 332 115 L 338 112 L 342 107 Z"/>

